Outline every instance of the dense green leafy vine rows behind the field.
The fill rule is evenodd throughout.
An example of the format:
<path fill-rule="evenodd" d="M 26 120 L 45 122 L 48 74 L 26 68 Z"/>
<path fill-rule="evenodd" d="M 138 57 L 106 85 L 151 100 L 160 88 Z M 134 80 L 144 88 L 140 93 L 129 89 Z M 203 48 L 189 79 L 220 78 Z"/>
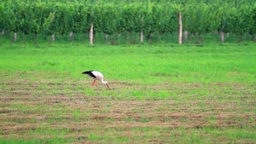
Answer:
<path fill-rule="evenodd" d="M 13 36 L 20 33 L 26 43 L 26 35 L 34 34 L 38 43 L 38 34 L 44 33 L 53 38 L 74 33 L 93 33 L 90 43 L 96 33 L 105 33 L 107 42 L 109 35 L 118 37 L 120 33 L 137 39 L 143 37 L 148 41 L 153 34 L 163 35 L 178 31 L 178 12 L 182 15 L 183 37 L 187 33 L 197 38 L 205 34 L 219 32 L 221 37 L 233 33 L 237 37 L 244 34 L 251 35 L 254 40 L 256 33 L 256 3 L 245 1 L 237 6 L 223 1 L 175 1 L 118 3 L 102 1 L 32 1 L 15 0 L 0 2 L 0 32 L 9 32 L 12 42 Z M 213 2 L 213 1 L 212 1 Z M 233 2 L 233 1 L 232 1 Z M 223 40 L 224 41 L 224 40 Z"/>

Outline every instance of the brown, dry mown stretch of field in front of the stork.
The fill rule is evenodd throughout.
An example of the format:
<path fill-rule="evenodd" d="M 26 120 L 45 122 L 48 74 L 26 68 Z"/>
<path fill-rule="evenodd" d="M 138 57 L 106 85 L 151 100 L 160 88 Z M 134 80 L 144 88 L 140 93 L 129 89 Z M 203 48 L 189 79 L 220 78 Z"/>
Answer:
<path fill-rule="evenodd" d="M 232 73 L 231 73 L 232 74 Z M 236 74 L 236 73 L 234 73 Z M 184 134 L 180 129 L 191 135 L 193 130 L 203 128 L 255 130 L 255 86 L 253 84 L 212 83 L 186 84 L 163 83 L 155 85 L 129 84 L 112 81 L 112 91 L 100 85 L 100 91 L 84 91 L 91 89 L 90 82 L 80 81 L 33 81 L 18 78 L 15 81 L 3 80 L 0 84 L 0 137 L 16 139 L 40 139 L 74 137 L 84 143 L 111 142 L 112 140 L 85 141 L 94 133 L 99 137 L 141 137 L 134 143 L 165 143 L 166 137 L 177 137 Z M 164 85 L 164 87 L 163 87 Z M 125 88 L 127 90 L 123 90 Z M 145 100 L 139 101 L 127 93 L 132 91 L 175 93 L 166 99 L 151 98 L 144 95 Z M 188 94 L 190 91 L 207 90 L 207 95 Z M 223 95 L 214 95 L 216 91 Z M 118 96 L 112 94 L 115 92 Z M 94 95 L 90 95 L 93 93 Z M 213 93 L 213 95 L 211 94 Z M 122 95 L 125 96 L 122 96 Z M 133 98 L 132 98 L 133 97 Z M 177 100 L 183 97 L 184 100 Z M 143 130 L 145 128 L 150 129 Z M 56 130 L 52 134 L 44 130 Z M 41 130 L 41 132 L 40 132 Z M 177 130 L 171 133 L 172 130 Z M 147 135 L 148 139 L 144 139 Z M 41 135 L 44 133 L 44 135 Z M 213 142 L 227 142 L 229 137 L 212 138 Z M 207 141 L 207 139 L 205 140 Z M 170 141 L 169 141 L 170 142 Z M 255 142 L 244 138 L 241 142 Z M 239 141 L 238 141 L 239 143 Z"/>

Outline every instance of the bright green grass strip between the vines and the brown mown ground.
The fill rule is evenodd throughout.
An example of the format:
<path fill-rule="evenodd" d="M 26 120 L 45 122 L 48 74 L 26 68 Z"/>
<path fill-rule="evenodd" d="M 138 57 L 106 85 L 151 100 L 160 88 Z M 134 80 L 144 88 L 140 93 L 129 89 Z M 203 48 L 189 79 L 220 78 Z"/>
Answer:
<path fill-rule="evenodd" d="M 142 79 L 155 83 L 252 82 L 255 76 L 255 45 L 206 47 L 180 45 L 86 46 L 58 45 L 34 49 L 5 46 L 1 49 L 1 70 L 39 73 L 60 72 L 52 77 L 81 78 L 85 70 L 104 72 L 106 78 Z M 14 48 L 16 47 L 16 48 Z M 62 75 L 61 75 L 62 74 Z M 237 76 L 238 75 L 238 76 Z M 66 76 L 65 76 L 66 77 Z"/>

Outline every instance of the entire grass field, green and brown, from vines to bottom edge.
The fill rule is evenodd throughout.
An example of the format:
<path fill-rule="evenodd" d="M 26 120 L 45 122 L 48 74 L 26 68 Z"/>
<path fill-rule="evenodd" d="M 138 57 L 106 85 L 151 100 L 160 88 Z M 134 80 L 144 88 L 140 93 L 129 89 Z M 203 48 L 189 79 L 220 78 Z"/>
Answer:
<path fill-rule="evenodd" d="M 256 44 L 0 47 L 0 143 L 254 143 Z M 81 72 L 104 74 L 112 90 Z"/>

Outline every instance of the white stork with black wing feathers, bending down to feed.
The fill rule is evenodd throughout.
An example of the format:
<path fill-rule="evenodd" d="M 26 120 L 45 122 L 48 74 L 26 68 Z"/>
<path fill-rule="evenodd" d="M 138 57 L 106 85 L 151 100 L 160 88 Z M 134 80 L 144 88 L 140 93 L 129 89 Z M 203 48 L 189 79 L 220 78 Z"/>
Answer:
<path fill-rule="evenodd" d="M 90 78 L 94 79 L 94 81 L 92 82 L 92 88 L 94 87 L 93 85 L 95 84 L 96 88 L 98 89 L 97 84 L 96 84 L 97 83 L 96 80 L 100 80 L 102 82 L 102 84 L 106 84 L 108 86 L 108 89 L 110 89 L 109 85 L 108 85 L 108 82 L 103 81 L 103 74 L 102 74 L 102 72 L 86 71 L 86 72 L 83 72 L 82 74 L 86 74 L 86 75 L 90 76 Z"/>

